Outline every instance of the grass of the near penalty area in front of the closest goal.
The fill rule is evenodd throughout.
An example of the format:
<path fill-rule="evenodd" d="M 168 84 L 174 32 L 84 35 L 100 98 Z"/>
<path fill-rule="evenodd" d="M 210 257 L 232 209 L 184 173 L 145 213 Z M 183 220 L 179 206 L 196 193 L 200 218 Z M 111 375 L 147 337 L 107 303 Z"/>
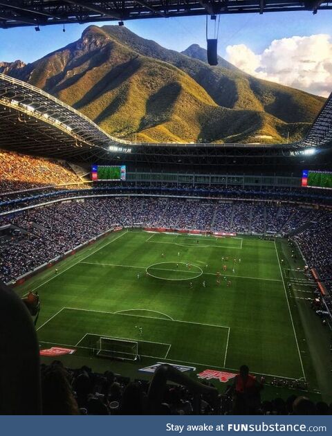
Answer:
<path fill-rule="evenodd" d="M 71 326 L 69 330 L 68 325 Z M 142 336 L 138 326 L 142 327 Z M 172 345 L 167 355 L 169 359 L 217 366 L 223 365 L 228 338 L 228 328 L 225 327 L 65 308 L 39 329 L 39 340 L 74 346 L 86 333 L 147 341 L 150 343 L 149 355 L 156 358 L 165 358 L 165 347 L 160 347 L 160 343 L 169 344 Z"/>

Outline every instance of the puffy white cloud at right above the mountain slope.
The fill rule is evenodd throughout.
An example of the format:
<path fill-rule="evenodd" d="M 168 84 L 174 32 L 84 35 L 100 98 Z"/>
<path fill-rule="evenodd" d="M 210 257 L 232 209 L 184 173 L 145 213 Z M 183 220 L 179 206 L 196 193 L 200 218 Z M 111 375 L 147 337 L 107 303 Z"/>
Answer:
<path fill-rule="evenodd" d="M 330 35 L 275 39 L 263 53 L 245 44 L 228 46 L 227 60 L 260 79 L 327 97 L 332 91 Z"/>

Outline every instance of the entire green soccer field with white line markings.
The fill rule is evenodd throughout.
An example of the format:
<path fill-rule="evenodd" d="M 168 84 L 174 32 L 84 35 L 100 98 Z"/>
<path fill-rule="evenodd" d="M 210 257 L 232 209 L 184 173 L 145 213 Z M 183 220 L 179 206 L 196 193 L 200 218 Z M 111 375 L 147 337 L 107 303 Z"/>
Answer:
<path fill-rule="evenodd" d="M 113 233 L 35 287 L 39 341 L 89 349 L 100 336 L 133 340 L 143 361 L 228 370 L 246 363 L 257 374 L 300 379 L 280 262 L 275 242 L 255 237 Z"/>

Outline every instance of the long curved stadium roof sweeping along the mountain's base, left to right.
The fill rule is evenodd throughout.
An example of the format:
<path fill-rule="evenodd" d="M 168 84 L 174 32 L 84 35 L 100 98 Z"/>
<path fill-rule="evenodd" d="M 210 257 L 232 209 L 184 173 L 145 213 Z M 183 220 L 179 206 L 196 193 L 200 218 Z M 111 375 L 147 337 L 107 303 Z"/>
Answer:
<path fill-rule="evenodd" d="M 268 158 L 298 156 L 310 147 L 330 147 L 332 94 L 308 136 L 293 144 L 130 143 L 114 138 L 64 102 L 0 73 L 0 148 L 71 161 L 232 165 L 237 158 L 266 165 Z M 248 163 L 248 162 L 247 162 Z"/>

